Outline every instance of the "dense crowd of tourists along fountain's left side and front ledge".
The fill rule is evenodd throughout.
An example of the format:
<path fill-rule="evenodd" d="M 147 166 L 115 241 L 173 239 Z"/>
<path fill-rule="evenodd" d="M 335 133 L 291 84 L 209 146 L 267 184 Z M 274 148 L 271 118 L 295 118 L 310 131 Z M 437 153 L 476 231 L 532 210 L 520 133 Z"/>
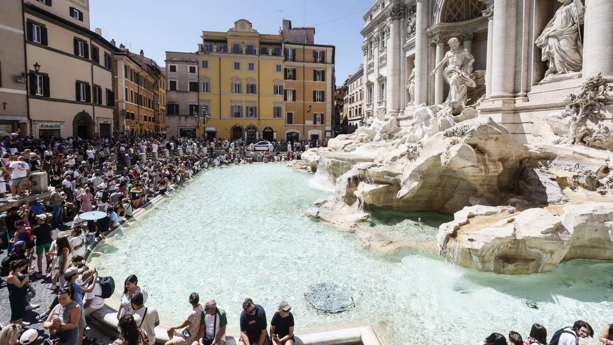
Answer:
<path fill-rule="evenodd" d="M 34 343 L 36 338 L 31 339 L 33 329 L 25 330 L 30 324 L 23 316 L 26 311 L 45 308 L 37 321 L 43 323 L 50 339 L 58 344 L 81 345 L 85 316 L 102 308 L 105 298 L 109 298 L 114 289 L 111 277 L 100 277 L 96 269 L 84 263 L 86 250 L 97 239 L 104 239 L 105 234 L 119 225 L 120 219 L 129 219 L 135 209 L 152 198 L 180 188 L 203 168 L 300 159 L 303 149 L 303 144 L 297 142 L 289 143 L 295 150 L 286 152 L 249 152 L 249 147 L 240 144 L 240 141 L 126 136 L 39 140 L 20 138 L 18 133 L 5 138 L 0 146 L 3 151 L 0 196 L 1 201 L 12 206 L 4 216 L 6 236 L 0 239 L 0 246 L 7 249 L 0 277 L 6 279 L 11 316 L 9 325 L 0 331 L 0 344 Z M 281 142 L 275 143 L 277 145 Z M 175 154 L 179 148 L 184 155 Z M 164 158 L 164 149 L 168 150 L 169 158 Z M 145 160 L 142 160 L 143 153 Z M 154 160 L 154 155 L 159 159 Z M 47 172 L 47 182 L 52 189 L 50 197 L 47 201 L 34 197 L 28 202 L 20 201 L 31 194 L 31 174 L 37 171 Z M 4 195 L 7 182 L 8 198 Z M 95 221 L 80 218 L 89 211 L 102 211 L 106 216 Z M 59 231 L 55 236 L 54 230 Z M 36 296 L 30 284 L 31 277 L 42 279 L 56 294 L 50 306 L 31 303 Z M 159 324 L 159 318 L 154 308 L 143 308 L 147 293 L 140 290 L 135 276 L 126 279 L 124 289 L 118 311 L 121 337 L 115 343 L 153 344 L 153 328 Z M 192 293 L 189 301 L 200 313 L 192 312 L 183 324 L 170 328 L 168 344 L 191 344 L 211 334 L 219 335 L 219 339 L 212 342 L 213 336 L 209 344 L 223 343 L 225 312 L 216 308 L 215 300 L 208 301 L 203 308 L 197 293 Z M 244 326 L 246 338 L 242 340 L 243 344 L 251 344 L 250 339 L 255 339 L 254 327 L 264 325 L 262 329 L 266 328 L 265 313 L 261 306 L 247 303 L 247 300 L 245 303 L 241 328 Z M 270 334 L 277 344 L 292 343 L 293 331 L 289 330 L 288 323 L 292 319 L 293 330 L 290 309 L 287 303 L 282 303 L 273 317 Z M 212 325 L 211 329 L 205 327 L 207 323 Z M 260 330 L 258 334 L 261 333 Z M 257 340 L 262 345 L 259 338 Z"/>

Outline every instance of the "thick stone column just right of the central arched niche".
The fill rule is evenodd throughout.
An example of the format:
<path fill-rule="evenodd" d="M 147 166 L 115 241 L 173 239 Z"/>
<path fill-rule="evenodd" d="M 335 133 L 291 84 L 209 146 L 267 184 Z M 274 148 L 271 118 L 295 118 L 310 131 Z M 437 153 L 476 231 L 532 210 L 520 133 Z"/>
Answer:
<path fill-rule="evenodd" d="M 492 95 L 510 98 L 515 88 L 517 1 L 494 0 Z"/>

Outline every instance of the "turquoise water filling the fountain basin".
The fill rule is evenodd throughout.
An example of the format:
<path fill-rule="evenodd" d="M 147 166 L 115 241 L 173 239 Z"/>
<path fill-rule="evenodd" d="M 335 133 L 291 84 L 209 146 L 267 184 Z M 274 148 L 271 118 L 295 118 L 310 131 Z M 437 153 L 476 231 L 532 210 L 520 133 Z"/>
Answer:
<path fill-rule="evenodd" d="M 238 334 L 245 297 L 264 306 L 268 322 L 287 300 L 297 333 L 371 324 L 383 344 L 477 344 L 493 331 L 526 336 L 533 322 L 552 335 L 576 319 L 597 333 L 611 322 L 611 263 L 499 276 L 411 250 L 371 254 L 355 236 L 305 217 L 328 195 L 308 184 L 312 176 L 274 164 L 209 169 L 96 247 L 91 265 L 115 278 L 115 300 L 125 277 L 136 274 L 163 325 L 185 319 L 189 293 L 200 293 L 203 303 L 215 298 L 230 335 Z M 408 215 L 432 226 L 446 219 Z M 434 227 L 416 231 L 401 216 L 378 214 L 373 227 L 392 237 L 435 235 Z M 304 293 L 321 282 L 349 290 L 355 307 L 339 314 L 311 308 Z"/>

